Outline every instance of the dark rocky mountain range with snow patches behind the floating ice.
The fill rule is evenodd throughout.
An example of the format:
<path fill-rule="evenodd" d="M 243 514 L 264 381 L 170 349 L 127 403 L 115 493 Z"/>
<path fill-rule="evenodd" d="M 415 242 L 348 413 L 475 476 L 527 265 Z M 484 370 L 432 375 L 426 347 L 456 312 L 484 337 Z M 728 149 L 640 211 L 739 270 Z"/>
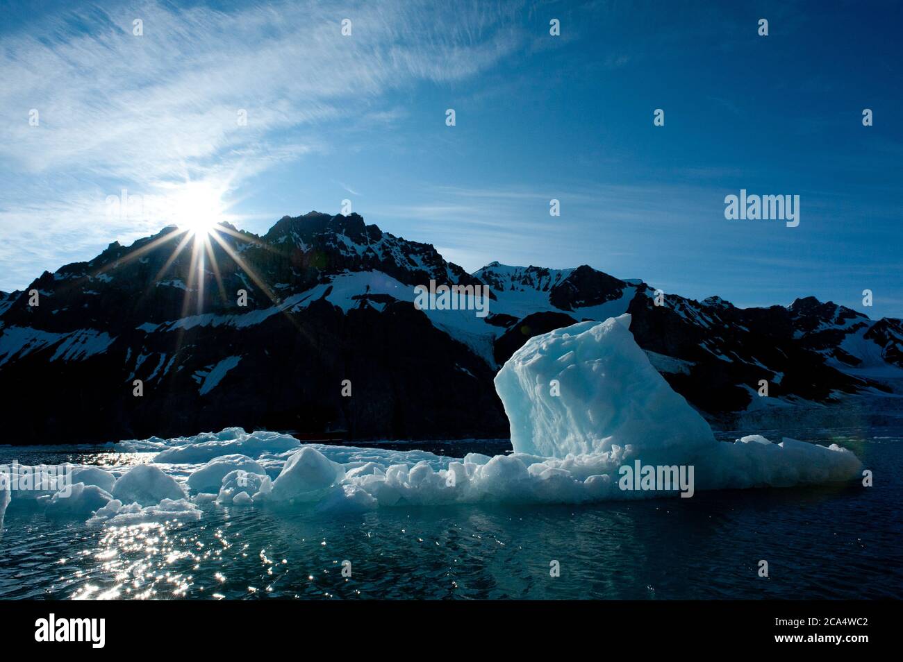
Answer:
<path fill-rule="evenodd" d="M 492 383 L 500 365 L 531 336 L 625 312 L 650 362 L 722 426 L 861 410 L 851 403 L 891 398 L 903 382 L 900 320 L 812 298 L 741 309 L 656 297 L 641 280 L 586 265 L 492 262 L 469 274 L 356 214 L 284 216 L 263 236 L 223 225 L 209 248 L 199 244 L 193 270 L 192 246 L 167 227 L 0 295 L 5 443 L 227 426 L 505 437 Z M 430 280 L 488 286 L 489 315 L 416 309 L 414 287 Z"/>

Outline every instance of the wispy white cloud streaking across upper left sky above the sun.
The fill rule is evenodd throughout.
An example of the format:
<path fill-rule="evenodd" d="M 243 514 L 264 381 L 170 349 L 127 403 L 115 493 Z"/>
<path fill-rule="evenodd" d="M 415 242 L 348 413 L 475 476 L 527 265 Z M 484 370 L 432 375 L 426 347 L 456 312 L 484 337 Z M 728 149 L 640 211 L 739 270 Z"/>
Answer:
<path fill-rule="evenodd" d="M 146 2 L 81 6 L 8 34 L 0 40 L 0 175 L 8 183 L 0 288 L 36 275 L 23 244 L 33 246 L 38 228 L 46 246 L 70 245 L 86 225 L 107 238 L 146 234 L 144 222 L 104 216 L 105 198 L 120 188 L 154 194 L 189 179 L 237 187 L 277 163 L 340 149 L 332 133 L 401 120 L 404 109 L 387 93 L 454 84 L 516 51 L 523 35 L 504 20 L 513 10 Z"/>

